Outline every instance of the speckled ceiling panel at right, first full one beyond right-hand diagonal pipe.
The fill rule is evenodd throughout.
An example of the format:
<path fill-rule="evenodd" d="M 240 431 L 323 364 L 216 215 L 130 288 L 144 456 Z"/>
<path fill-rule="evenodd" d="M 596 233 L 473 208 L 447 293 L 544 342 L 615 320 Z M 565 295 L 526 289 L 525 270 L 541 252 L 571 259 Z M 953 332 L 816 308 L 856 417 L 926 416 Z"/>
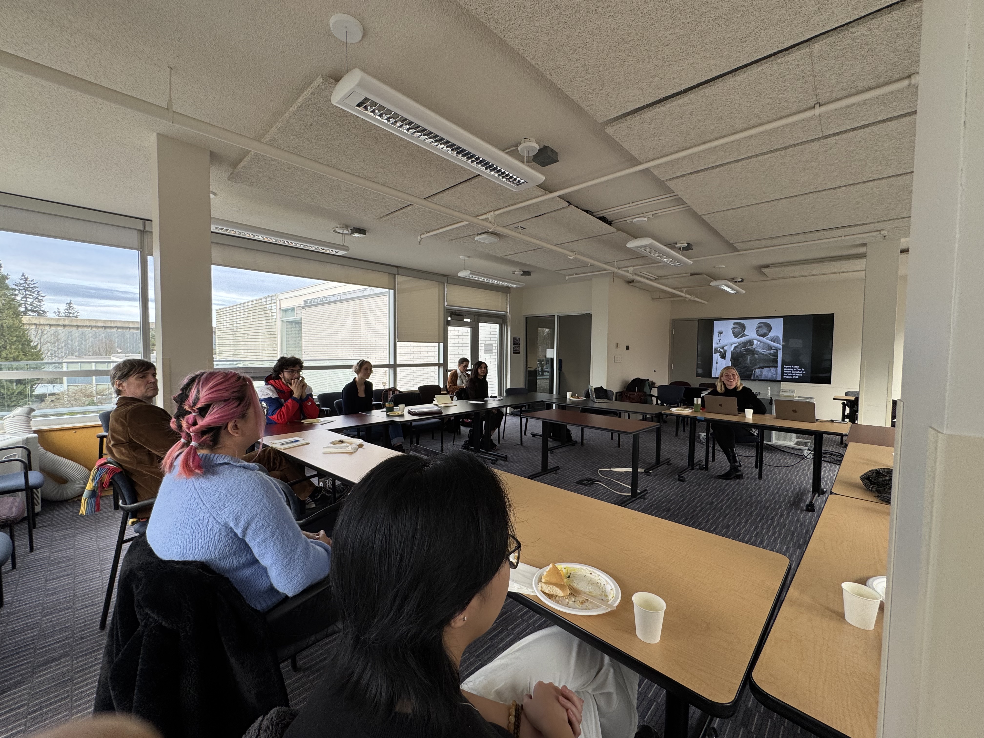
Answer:
<path fill-rule="evenodd" d="M 814 139 L 673 180 L 702 215 L 912 171 L 914 115 Z"/>

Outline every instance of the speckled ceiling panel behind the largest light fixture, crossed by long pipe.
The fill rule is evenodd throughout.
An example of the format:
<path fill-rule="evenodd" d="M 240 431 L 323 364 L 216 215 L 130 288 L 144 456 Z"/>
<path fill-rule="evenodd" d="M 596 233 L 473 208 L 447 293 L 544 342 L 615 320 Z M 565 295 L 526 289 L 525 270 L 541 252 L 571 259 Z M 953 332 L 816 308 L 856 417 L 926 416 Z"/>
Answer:
<path fill-rule="evenodd" d="M 335 86 L 336 82 L 327 77 L 315 80 L 263 141 L 417 197 L 427 197 L 473 176 L 443 156 L 428 152 L 333 105 L 331 98 Z M 262 154 L 247 154 L 229 179 L 291 196 L 308 191 L 306 196 L 298 199 L 333 208 L 337 200 L 347 204 L 353 193 L 369 192 L 299 167 L 277 166 L 274 161 Z M 360 215 L 373 213 L 377 217 L 403 205 L 392 198 L 377 201 L 379 197 L 383 196 L 373 193 L 368 197 L 370 202 L 362 207 L 357 203 L 354 205 Z M 391 207 L 378 213 L 377 202 L 386 201 L 392 203 Z"/>

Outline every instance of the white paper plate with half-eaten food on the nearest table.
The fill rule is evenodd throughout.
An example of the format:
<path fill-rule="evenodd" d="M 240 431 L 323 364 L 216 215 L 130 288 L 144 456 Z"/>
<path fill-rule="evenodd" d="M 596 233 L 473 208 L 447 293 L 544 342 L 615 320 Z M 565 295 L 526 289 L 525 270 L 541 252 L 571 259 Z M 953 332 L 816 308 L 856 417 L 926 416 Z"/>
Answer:
<path fill-rule="evenodd" d="M 545 604 L 571 615 L 601 615 L 622 599 L 618 583 L 607 574 L 572 562 L 543 567 L 533 575 L 533 588 Z"/>

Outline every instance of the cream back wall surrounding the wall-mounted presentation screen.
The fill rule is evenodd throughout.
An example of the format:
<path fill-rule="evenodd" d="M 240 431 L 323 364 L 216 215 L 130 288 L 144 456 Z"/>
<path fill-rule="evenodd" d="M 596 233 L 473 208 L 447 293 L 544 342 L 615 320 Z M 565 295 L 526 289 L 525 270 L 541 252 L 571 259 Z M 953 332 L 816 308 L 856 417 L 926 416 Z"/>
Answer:
<path fill-rule="evenodd" d="M 901 338 L 904 330 L 905 277 L 899 277 L 899 307 L 896 321 L 895 374 L 893 395 L 898 397 L 901 377 Z M 804 315 L 833 313 L 833 365 L 830 385 L 786 384 L 798 395 L 815 397 L 818 417 L 840 417 L 840 402 L 834 395 L 858 389 L 861 372 L 861 316 L 864 309 L 864 273 L 801 277 L 752 282 L 745 294 L 703 289 L 700 296 L 707 305 L 684 300 L 667 300 L 673 318 L 731 318 L 741 316 Z"/>

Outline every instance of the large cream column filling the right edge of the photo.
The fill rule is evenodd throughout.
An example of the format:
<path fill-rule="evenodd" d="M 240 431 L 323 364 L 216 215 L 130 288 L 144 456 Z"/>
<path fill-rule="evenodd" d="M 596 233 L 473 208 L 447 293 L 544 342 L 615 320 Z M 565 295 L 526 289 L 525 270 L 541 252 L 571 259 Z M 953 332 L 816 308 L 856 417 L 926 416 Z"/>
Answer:
<path fill-rule="evenodd" d="M 882 649 L 885 738 L 976 735 L 984 722 L 981 29 L 984 0 L 923 5 Z"/>

